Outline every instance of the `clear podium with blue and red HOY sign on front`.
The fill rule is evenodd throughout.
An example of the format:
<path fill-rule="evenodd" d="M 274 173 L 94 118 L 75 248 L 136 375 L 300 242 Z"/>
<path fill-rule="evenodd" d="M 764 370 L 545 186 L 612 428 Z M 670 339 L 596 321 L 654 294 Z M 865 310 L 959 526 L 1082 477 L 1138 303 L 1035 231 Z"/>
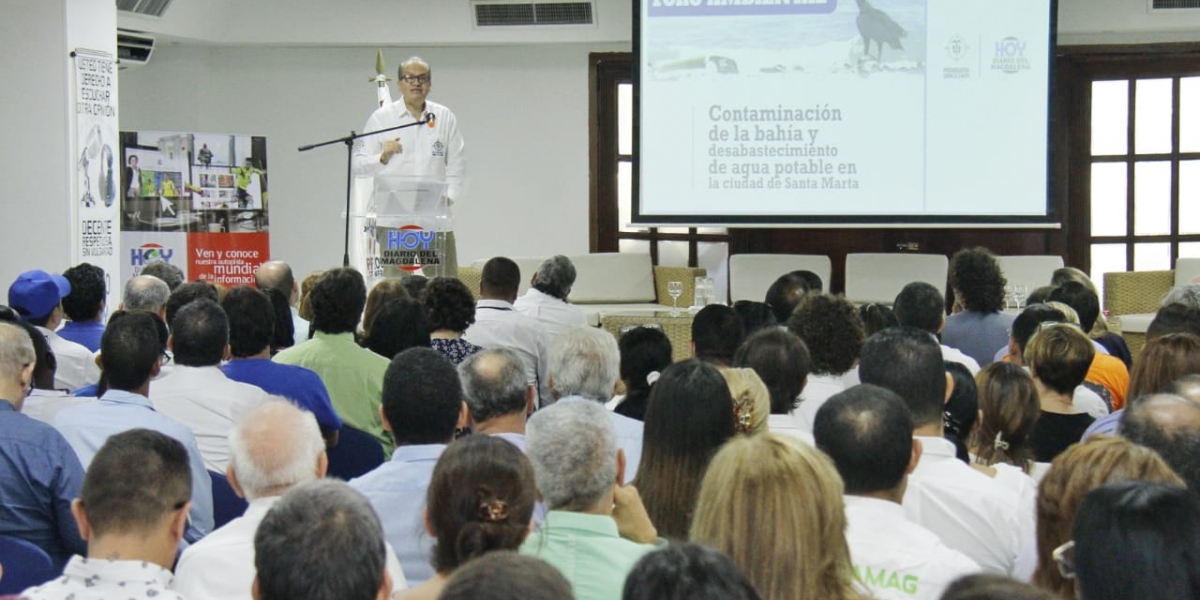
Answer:
<path fill-rule="evenodd" d="M 350 265 L 367 287 L 382 278 L 445 275 L 445 233 L 454 229 L 446 184 L 374 178 L 371 187 L 373 193 L 360 197 L 361 210 L 349 215 Z"/>

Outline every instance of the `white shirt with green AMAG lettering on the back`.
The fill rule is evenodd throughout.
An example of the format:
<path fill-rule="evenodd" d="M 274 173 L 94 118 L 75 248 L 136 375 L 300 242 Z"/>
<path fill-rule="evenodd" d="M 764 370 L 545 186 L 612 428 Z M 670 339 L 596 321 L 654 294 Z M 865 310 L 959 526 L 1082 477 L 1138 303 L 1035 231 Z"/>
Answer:
<path fill-rule="evenodd" d="M 894 502 L 846 496 L 846 541 L 854 575 L 880 600 L 937 600 L 979 565 L 908 521 Z"/>

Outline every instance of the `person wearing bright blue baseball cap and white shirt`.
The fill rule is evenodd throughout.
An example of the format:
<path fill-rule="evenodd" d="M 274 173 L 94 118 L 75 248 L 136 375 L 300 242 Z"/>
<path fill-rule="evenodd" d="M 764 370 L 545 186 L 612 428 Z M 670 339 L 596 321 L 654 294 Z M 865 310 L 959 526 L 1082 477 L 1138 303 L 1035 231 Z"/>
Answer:
<path fill-rule="evenodd" d="M 98 382 L 100 367 L 91 350 L 54 332 L 62 323 L 62 299 L 70 293 L 71 283 L 61 275 L 25 271 L 8 287 L 8 306 L 50 343 L 58 360 L 54 388 L 74 391 Z"/>

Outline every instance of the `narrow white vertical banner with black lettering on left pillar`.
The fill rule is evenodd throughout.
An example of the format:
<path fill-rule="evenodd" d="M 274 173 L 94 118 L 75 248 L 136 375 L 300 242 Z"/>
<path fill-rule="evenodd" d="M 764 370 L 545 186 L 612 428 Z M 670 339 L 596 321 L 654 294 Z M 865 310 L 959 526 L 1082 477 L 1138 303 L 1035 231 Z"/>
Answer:
<path fill-rule="evenodd" d="M 118 157 L 116 61 L 107 52 L 77 48 L 74 59 L 74 113 L 78 156 L 72 198 L 78 218 L 78 239 L 72 245 L 72 264 L 91 263 L 104 270 L 108 306 L 120 301 L 113 286 L 121 269 L 119 252 L 121 163 Z"/>

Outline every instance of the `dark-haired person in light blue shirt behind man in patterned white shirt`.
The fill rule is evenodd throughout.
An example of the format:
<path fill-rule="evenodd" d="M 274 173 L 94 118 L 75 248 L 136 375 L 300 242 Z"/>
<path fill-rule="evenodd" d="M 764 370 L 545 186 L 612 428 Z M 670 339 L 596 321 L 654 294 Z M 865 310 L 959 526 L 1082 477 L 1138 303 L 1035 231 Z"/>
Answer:
<path fill-rule="evenodd" d="M 212 530 L 212 484 L 192 430 L 158 413 L 150 403 L 150 382 L 158 373 L 167 326 L 148 311 L 118 311 L 101 340 L 100 360 L 108 390 L 96 402 L 62 410 L 54 427 L 79 456 L 84 469 L 113 436 L 132 428 L 157 431 L 187 450 L 192 470 L 192 510 L 184 538 L 197 541 Z"/>

